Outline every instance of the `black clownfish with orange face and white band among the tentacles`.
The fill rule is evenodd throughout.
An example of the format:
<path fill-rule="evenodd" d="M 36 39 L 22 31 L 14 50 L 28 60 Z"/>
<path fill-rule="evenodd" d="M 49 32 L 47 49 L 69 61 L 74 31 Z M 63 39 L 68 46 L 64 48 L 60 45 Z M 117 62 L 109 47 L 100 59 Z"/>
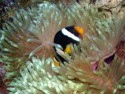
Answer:
<path fill-rule="evenodd" d="M 84 34 L 84 29 L 79 26 L 69 26 L 62 28 L 54 36 L 54 44 L 60 45 L 62 49 L 59 49 L 56 46 L 54 46 L 55 52 L 60 51 L 62 53 L 64 52 L 68 55 L 71 55 L 72 50 L 70 44 L 78 45 L 80 41 L 83 39 Z M 54 58 L 54 65 L 60 66 L 60 63 L 58 61 L 61 61 L 63 63 L 66 60 L 58 53 L 56 54 L 57 57 Z"/>

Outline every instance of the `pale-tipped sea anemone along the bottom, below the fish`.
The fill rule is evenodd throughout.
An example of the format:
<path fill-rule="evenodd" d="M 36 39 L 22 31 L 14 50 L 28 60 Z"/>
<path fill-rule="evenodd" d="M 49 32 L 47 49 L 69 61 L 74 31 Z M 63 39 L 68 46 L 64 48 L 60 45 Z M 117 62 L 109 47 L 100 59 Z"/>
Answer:
<path fill-rule="evenodd" d="M 10 93 L 34 94 L 123 94 L 125 92 L 125 62 L 116 56 L 112 64 L 99 62 L 94 71 L 89 61 L 77 56 L 69 64 L 61 65 L 58 72 L 51 67 L 52 59 L 33 57 L 27 62 L 21 76 L 9 84 Z M 57 71 L 56 70 L 56 71 Z M 22 87 L 23 86 L 23 87 Z"/>

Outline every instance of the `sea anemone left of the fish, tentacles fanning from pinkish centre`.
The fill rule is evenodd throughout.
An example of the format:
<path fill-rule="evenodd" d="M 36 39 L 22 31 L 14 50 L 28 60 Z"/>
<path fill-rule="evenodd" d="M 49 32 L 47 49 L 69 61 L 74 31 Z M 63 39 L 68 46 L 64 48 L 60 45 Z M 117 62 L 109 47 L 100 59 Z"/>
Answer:
<path fill-rule="evenodd" d="M 37 8 L 20 9 L 13 19 L 1 30 L 0 41 L 1 61 L 6 63 L 10 79 L 32 55 L 53 57 L 55 52 L 49 43 L 53 42 L 54 34 L 67 25 L 56 5 L 48 2 Z"/>

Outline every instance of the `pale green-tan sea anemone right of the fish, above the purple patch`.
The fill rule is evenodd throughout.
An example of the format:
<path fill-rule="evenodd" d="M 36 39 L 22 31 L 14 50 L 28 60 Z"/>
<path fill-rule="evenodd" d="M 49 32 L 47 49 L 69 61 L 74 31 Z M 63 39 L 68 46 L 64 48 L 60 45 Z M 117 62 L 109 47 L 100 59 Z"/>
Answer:
<path fill-rule="evenodd" d="M 68 7 L 66 11 L 74 20 L 74 24 L 81 26 L 85 31 L 85 37 L 81 43 L 81 51 L 85 58 L 96 62 L 118 51 L 119 48 L 116 46 L 125 36 L 124 15 L 118 18 L 118 15 L 114 13 L 112 17 L 108 17 L 91 5 L 81 6 L 78 3 Z"/>

